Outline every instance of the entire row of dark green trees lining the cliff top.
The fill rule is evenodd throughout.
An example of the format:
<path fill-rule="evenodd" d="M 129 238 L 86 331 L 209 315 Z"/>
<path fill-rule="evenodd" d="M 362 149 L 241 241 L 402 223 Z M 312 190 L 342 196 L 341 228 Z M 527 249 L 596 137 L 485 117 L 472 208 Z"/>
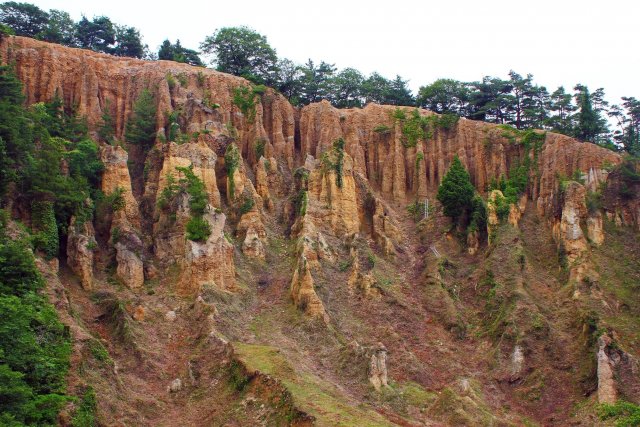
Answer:
<path fill-rule="evenodd" d="M 6 2 L 0 5 L 0 23 L 15 34 L 69 46 L 204 66 L 198 52 L 183 47 L 180 40 L 173 44 L 167 39 L 157 54 L 150 53 L 135 28 L 113 24 L 105 16 L 91 21 L 83 17 L 75 23 L 63 11 L 45 12 L 29 3 Z M 221 28 L 205 38 L 200 50 L 219 71 L 276 88 L 294 105 L 326 99 L 339 108 L 368 102 L 419 106 L 517 129 L 548 129 L 640 155 L 640 101 L 623 97 L 620 105 L 610 105 L 602 88 L 590 91 L 578 84 L 573 92 L 564 87 L 550 92 L 534 83 L 531 74 L 511 71 L 504 79 L 438 79 L 420 87 L 414 96 L 400 76 L 387 79 L 376 72 L 365 76 L 355 68 L 338 70 L 327 61 L 296 64 L 278 58 L 267 38 L 247 27 Z"/>

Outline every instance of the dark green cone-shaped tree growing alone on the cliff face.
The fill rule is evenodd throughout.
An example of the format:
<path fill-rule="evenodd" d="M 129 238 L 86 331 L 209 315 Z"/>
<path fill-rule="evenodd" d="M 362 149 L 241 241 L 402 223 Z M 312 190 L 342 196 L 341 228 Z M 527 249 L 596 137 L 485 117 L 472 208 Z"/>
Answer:
<path fill-rule="evenodd" d="M 458 220 L 470 209 L 474 192 L 469 172 L 455 156 L 438 187 L 437 199 L 442 203 L 444 214 L 454 221 Z"/>

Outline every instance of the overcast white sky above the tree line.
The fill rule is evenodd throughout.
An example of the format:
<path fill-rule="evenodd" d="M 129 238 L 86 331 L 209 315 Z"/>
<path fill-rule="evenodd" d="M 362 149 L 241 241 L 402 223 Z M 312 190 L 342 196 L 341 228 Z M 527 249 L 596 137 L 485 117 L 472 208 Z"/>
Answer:
<path fill-rule="evenodd" d="M 440 77 L 505 78 L 513 69 L 550 91 L 580 82 L 604 87 L 614 103 L 640 97 L 637 0 L 30 2 L 134 26 L 154 51 L 165 38 L 198 49 L 215 29 L 246 25 L 280 58 L 400 74 L 414 91 Z"/>

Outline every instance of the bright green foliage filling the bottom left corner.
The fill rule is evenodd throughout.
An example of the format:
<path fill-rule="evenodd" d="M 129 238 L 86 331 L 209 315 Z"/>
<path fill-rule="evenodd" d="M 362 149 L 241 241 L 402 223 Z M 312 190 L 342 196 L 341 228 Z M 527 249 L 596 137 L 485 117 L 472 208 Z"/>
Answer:
<path fill-rule="evenodd" d="M 0 229 L 0 422 L 53 425 L 66 402 L 71 344 L 27 245 Z"/>

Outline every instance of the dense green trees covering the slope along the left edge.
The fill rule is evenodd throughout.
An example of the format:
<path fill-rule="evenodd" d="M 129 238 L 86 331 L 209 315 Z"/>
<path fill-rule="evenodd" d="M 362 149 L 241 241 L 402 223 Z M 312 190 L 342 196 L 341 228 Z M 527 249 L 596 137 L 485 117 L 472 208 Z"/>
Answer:
<path fill-rule="evenodd" d="M 0 201 L 29 212 L 16 238 L 0 209 L 0 425 L 54 425 L 69 401 L 71 343 L 33 250 L 58 254 L 71 217 L 90 221 L 103 168 L 83 120 L 59 98 L 25 107 L 22 84 L 0 67 Z M 64 166 L 64 167 L 63 167 Z M 75 425 L 75 424 L 74 424 Z"/>

